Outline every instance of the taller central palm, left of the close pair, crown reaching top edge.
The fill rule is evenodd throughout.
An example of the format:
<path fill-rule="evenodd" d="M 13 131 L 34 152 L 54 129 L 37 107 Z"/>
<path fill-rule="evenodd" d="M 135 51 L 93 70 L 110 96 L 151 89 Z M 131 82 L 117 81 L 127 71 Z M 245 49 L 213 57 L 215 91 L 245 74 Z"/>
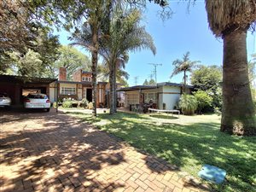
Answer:
<path fill-rule="evenodd" d="M 99 52 L 99 38 L 102 37 L 102 28 L 105 25 L 106 15 L 111 12 L 112 0 L 82 1 L 78 4 L 79 20 L 86 21 L 73 32 L 73 45 L 82 46 L 91 52 L 92 73 L 92 102 L 93 113 L 96 116 L 96 76 Z M 84 6 L 84 8 L 83 8 Z M 83 9 L 82 9 L 83 8 Z"/>

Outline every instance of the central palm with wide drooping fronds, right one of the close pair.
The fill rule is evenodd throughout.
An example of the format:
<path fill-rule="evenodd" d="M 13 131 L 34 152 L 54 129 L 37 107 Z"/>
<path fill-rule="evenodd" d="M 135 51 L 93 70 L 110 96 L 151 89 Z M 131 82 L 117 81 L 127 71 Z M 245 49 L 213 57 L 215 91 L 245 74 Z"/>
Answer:
<path fill-rule="evenodd" d="M 99 53 L 109 67 L 110 114 L 116 112 L 116 74 L 125 67 L 129 58 L 128 52 L 150 49 L 155 54 L 153 39 L 145 27 L 139 25 L 141 16 L 137 9 L 115 9 L 109 23 L 108 38 L 100 46 Z"/>

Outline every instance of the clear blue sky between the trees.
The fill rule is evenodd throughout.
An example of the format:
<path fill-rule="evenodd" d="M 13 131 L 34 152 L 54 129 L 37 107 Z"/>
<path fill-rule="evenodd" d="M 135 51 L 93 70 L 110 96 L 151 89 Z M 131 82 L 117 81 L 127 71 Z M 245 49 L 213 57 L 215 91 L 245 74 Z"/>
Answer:
<path fill-rule="evenodd" d="M 148 9 L 144 13 L 142 25 L 154 38 L 154 44 L 157 49 L 156 55 L 149 50 L 142 50 L 130 53 L 130 60 L 125 70 L 130 74 L 129 85 L 143 84 L 145 79 L 149 79 L 154 67 L 148 63 L 161 63 L 157 67 L 157 81 L 173 83 L 182 82 L 182 75 L 177 75 L 170 79 L 172 73 L 172 61 L 182 59 L 183 54 L 190 52 L 191 61 L 201 61 L 203 65 L 222 65 L 223 59 L 223 41 L 221 38 L 215 38 L 207 23 L 207 12 L 204 1 L 198 1 L 195 6 L 188 3 L 170 1 L 174 15 L 170 20 L 163 22 L 158 10 L 160 7 L 154 3 L 148 3 Z M 67 32 L 58 32 L 61 44 L 69 44 Z M 255 36 L 255 34 L 254 34 Z M 247 34 L 247 54 L 255 52 L 254 37 L 251 32 Z M 83 51 L 86 55 L 90 55 Z"/>

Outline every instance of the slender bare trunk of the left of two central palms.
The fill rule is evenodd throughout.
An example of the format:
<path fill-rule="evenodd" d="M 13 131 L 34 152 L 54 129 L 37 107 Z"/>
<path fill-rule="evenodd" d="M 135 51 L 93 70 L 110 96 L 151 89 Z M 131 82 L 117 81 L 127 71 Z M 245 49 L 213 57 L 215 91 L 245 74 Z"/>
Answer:
<path fill-rule="evenodd" d="M 98 37 L 97 37 L 97 29 L 96 27 L 91 27 L 92 28 L 92 45 L 93 45 L 93 50 L 91 53 L 91 73 L 92 73 L 92 103 L 93 103 L 93 114 L 94 116 L 97 116 L 96 112 L 96 101 L 97 101 L 97 83 L 96 83 L 96 75 L 97 75 L 97 63 L 98 63 Z"/>

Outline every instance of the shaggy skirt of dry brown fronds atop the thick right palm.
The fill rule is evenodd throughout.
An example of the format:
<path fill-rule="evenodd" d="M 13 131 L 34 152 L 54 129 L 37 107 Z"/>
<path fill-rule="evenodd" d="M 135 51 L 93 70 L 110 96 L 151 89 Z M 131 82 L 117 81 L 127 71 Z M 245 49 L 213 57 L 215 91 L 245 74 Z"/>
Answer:
<path fill-rule="evenodd" d="M 255 0 L 206 0 L 209 27 L 217 37 L 238 28 L 255 26 Z"/>

